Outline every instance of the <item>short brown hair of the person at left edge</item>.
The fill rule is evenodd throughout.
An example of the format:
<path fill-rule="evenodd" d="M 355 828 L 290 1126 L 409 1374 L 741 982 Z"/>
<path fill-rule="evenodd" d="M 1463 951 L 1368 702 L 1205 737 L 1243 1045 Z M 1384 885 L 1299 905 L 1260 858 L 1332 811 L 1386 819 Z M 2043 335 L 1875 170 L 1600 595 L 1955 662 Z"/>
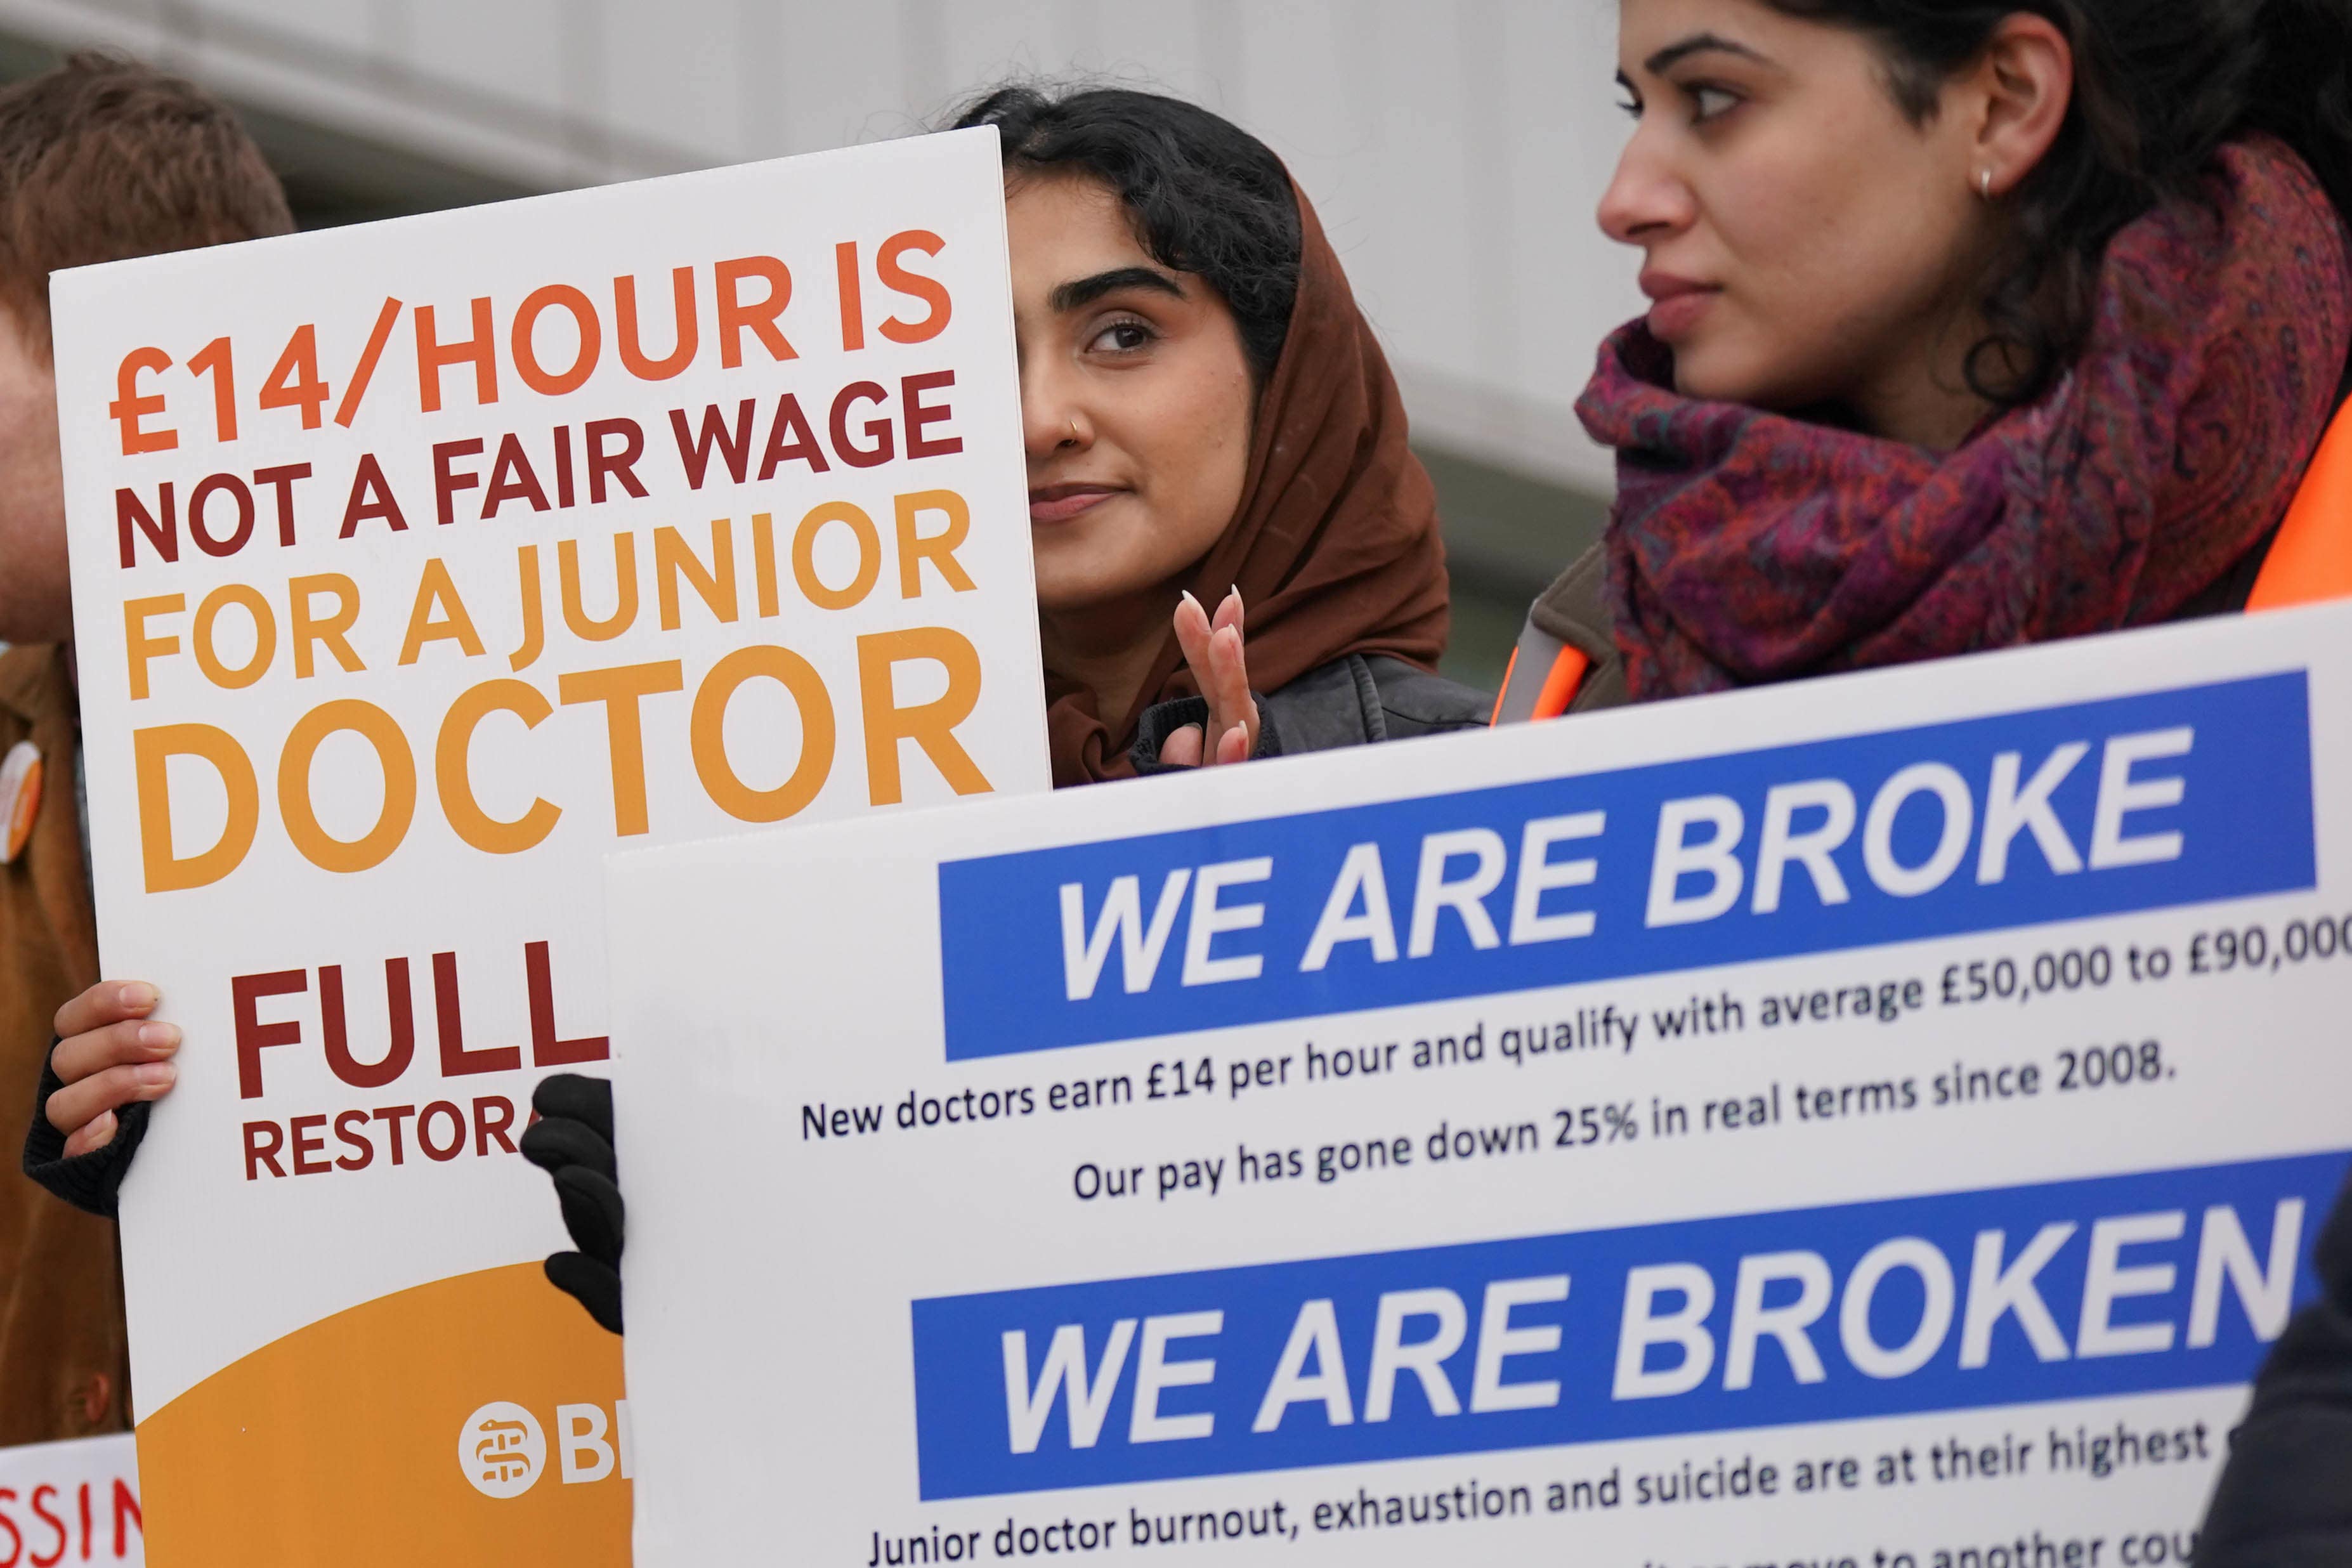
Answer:
<path fill-rule="evenodd" d="M 294 228 L 226 103 L 111 54 L 0 89 L 0 303 L 49 336 L 49 273 Z"/>

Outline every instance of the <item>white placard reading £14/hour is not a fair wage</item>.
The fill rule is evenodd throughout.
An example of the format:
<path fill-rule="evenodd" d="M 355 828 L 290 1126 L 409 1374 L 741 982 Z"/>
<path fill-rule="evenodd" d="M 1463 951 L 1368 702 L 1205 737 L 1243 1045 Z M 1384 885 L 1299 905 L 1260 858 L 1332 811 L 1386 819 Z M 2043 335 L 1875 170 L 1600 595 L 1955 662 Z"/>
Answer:
<path fill-rule="evenodd" d="M 993 132 L 59 275 L 155 1561 L 626 1561 L 602 856 L 1042 790 Z"/>

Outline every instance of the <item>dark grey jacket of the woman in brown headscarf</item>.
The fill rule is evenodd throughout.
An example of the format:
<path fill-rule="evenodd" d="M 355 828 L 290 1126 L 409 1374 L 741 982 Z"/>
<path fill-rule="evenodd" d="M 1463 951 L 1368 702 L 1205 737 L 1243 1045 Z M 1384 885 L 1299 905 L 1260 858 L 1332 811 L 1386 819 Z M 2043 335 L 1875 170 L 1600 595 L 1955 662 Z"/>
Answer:
<path fill-rule="evenodd" d="M 1482 729 L 1494 698 L 1444 675 L 1385 654 L 1348 654 L 1308 670 L 1289 686 L 1258 698 L 1256 757 L 1327 752 L 1336 745 L 1371 745 L 1437 736 L 1449 729 Z M 1207 724 L 1209 703 L 1188 696 L 1155 703 L 1136 726 L 1136 773 L 1176 771 L 1160 762 L 1160 745 L 1185 724 Z"/>

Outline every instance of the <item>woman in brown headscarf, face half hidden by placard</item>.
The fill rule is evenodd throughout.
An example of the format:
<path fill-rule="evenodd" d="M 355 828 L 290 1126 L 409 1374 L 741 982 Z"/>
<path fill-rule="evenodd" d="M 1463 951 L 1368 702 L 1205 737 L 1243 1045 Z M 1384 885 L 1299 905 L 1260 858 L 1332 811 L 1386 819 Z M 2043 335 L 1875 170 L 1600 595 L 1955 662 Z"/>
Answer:
<path fill-rule="evenodd" d="M 1202 726 L 1240 759 L 1482 724 L 1432 675 L 1437 496 L 1282 162 L 1143 92 L 957 125 L 1004 141 L 1054 783 L 1200 762 Z"/>

